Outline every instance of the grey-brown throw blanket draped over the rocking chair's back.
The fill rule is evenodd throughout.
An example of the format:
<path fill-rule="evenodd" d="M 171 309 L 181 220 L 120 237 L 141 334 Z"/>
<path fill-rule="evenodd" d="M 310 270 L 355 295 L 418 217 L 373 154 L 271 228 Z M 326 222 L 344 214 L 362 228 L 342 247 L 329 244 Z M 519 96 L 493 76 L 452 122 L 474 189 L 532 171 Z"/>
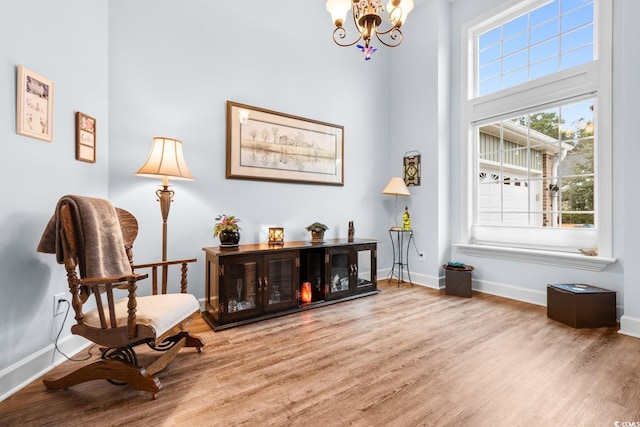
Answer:
<path fill-rule="evenodd" d="M 67 205 L 78 235 L 78 265 L 81 277 L 106 277 L 131 274 L 131 266 L 122 240 L 116 210 L 108 200 L 92 197 L 63 196 L 49 220 L 38 252 L 56 254 L 64 263 L 60 209 Z"/>

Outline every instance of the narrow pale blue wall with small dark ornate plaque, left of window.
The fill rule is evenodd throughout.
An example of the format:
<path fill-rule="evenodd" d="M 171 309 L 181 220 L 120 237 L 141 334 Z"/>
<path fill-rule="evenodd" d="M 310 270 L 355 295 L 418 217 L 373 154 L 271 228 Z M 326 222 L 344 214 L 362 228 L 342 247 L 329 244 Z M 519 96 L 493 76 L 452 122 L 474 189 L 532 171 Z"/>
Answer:
<path fill-rule="evenodd" d="M 449 21 L 447 0 L 425 2 L 409 15 L 407 28 L 402 27 L 405 39 L 391 55 L 391 174 L 403 176 L 404 154 L 420 152 L 421 184 L 409 187 L 411 196 L 399 198 L 398 205 L 409 207 L 414 230 L 411 279 L 435 288 L 450 253 Z M 425 253 L 424 262 L 418 261 L 419 251 Z"/>

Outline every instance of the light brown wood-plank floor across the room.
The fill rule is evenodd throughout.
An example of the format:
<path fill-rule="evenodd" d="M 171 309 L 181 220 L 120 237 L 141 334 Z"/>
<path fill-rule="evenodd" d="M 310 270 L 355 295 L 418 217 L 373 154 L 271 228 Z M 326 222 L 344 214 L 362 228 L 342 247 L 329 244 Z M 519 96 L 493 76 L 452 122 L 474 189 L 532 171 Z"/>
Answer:
<path fill-rule="evenodd" d="M 183 350 L 159 374 L 158 400 L 106 381 L 47 391 L 40 379 L 0 402 L 0 425 L 640 422 L 640 339 L 572 329 L 544 307 L 486 294 L 459 298 L 386 281 L 380 288 L 220 332 L 198 320 L 192 330 L 206 347 Z"/>

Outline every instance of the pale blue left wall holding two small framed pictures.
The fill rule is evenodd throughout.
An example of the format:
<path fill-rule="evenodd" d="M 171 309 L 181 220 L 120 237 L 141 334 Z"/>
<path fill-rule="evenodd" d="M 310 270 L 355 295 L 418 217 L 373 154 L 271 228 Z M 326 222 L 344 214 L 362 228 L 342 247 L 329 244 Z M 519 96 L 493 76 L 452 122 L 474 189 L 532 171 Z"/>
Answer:
<path fill-rule="evenodd" d="M 107 36 L 104 0 L 0 3 L 0 400 L 24 380 L 20 365 L 37 375 L 60 360 L 52 301 L 66 275 L 36 247 L 60 196 L 108 194 Z M 18 64 L 54 82 L 53 142 L 15 132 Z M 95 164 L 75 160 L 76 111 L 98 119 Z"/>

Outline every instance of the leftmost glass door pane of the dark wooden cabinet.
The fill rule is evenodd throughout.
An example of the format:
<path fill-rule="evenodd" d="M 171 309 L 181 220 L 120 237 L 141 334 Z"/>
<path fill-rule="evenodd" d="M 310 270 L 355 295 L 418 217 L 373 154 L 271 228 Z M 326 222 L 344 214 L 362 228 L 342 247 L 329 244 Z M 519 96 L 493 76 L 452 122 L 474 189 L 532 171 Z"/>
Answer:
<path fill-rule="evenodd" d="M 255 258 L 234 259 L 224 264 L 221 307 L 231 317 L 254 314 L 260 306 L 258 293 L 259 265 Z"/>

